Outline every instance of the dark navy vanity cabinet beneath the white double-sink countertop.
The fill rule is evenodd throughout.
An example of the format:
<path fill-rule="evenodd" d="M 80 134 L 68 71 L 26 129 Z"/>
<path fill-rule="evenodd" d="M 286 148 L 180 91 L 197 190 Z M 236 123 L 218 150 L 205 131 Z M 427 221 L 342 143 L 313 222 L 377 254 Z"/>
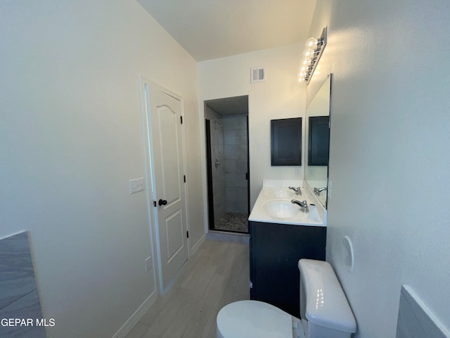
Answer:
<path fill-rule="evenodd" d="M 300 318 L 300 258 L 325 261 L 326 227 L 250 221 L 250 299 Z"/>

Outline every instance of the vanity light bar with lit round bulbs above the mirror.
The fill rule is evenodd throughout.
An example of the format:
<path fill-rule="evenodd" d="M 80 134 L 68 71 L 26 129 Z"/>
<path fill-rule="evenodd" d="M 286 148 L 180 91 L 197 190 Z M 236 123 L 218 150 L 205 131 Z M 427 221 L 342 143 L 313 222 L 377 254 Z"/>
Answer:
<path fill-rule="evenodd" d="M 298 74 L 299 82 L 307 82 L 307 84 L 309 84 L 314 70 L 316 69 L 316 65 L 319 63 L 319 59 L 322 56 L 323 49 L 325 49 L 326 33 L 327 27 L 324 27 L 319 39 L 310 37 L 307 39 L 307 42 L 304 43 L 305 49 L 302 54 L 302 63 Z"/>

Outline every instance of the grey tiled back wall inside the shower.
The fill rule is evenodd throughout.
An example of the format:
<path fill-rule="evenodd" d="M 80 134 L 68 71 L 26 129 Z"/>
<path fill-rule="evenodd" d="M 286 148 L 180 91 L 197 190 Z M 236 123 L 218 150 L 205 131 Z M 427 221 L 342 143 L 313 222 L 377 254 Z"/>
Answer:
<path fill-rule="evenodd" d="M 248 213 L 247 115 L 224 116 L 223 121 L 226 211 Z"/>

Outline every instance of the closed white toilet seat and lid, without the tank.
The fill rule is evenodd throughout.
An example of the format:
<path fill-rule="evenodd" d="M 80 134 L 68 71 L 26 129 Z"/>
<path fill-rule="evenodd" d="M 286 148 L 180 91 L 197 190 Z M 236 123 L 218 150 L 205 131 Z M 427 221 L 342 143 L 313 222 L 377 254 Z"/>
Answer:
<path fill-rule="evenodd" d="M 293 317 L 262 301 L 236 301 L 217 315 L 219 338 L 292 338 Z"/>

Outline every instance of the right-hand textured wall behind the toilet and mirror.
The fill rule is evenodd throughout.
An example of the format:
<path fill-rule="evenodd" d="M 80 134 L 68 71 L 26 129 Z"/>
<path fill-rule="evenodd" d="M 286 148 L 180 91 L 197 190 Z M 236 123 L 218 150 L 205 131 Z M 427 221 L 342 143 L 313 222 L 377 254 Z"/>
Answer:
<path fill-rule="evenodd" d="M 356 337 L 395 337 L 401 284 L 450 327 L 449 15 L 444 0 L 317 1 L 310 35 L 328 25 L 333 72 L 327 259 Z"/>

